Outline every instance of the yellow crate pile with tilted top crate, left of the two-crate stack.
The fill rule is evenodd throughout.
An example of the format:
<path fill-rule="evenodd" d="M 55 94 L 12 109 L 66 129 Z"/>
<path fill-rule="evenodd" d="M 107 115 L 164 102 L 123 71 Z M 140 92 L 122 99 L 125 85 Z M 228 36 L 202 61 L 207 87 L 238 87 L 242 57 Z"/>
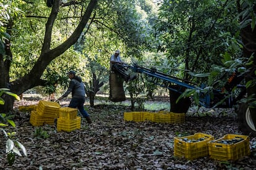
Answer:
<path fill-rule="evenodd" d="M 61 106 L 56 102 L 40 100 L 36 111 L 31 111 L 30 123 L 33 126 L 54 124 L 54 119 L 58 118 L 59 108 L 61 108 Z"/>

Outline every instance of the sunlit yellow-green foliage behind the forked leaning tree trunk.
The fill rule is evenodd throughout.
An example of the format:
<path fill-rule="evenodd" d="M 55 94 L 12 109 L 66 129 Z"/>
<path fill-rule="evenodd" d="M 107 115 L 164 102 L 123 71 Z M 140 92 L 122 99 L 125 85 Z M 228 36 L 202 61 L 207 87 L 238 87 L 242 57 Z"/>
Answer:
<path fill-rule="evenodd" d="M 12 65 L 9 71 L 10 81 L 22 78 L 31 70 L 41 55 L 41 44 L 45 36 L 45 23 L 51 12 L 45 1 L 6 1 L 15 4 L 25 15 L 13 18 L 12 26 Z M 67 2 L 67 1 L 66 1 Z M 88 1 L 70 6 L 61 6 L 51 33 L 51 48 L 58 46 L 70 36 L 79 18 L 88 5 Z M 60 92 L 54 86 L 67 86 L 66 71 L 73 69 L 82 79 L 90 81 L 88 59 L 104 67 L 101 80 L 108 78 L 109 57 L 115 49 L 121 49 L 124 58 L 130 62 L 134 57 L 142 56 L 142 49 L 150 40 L 148 18 L 155 18 L 154 4 L 149 1 L 98 1 L 95 17 L 84 29 L 74 48 L 54 60 L 43 73 L 48 81 L 46 88 L 38 88 L 42 93 Z M 140 7 L 141 6 L 141 7 Z M 14 12 L 12 12 L 14 14 Z M 25 17 L 24 17 L 25 16 Z M 5 30 L 4 30 L 5 31 Z M 153 42 L 150 40 L 150 42 Z M 146 44 L 146 45 L 145 45 Z M 79 51 L 79 52 L 77 52 Z M 50 70 L 50 71 L 49 71 Z M 53 71 L 54 70 L 54 71 Z M 65 73 L 64 73 L 65 71 Z M 56 72 L 56 73 L 54 73 Z M 57 74 L 59 73 L 59 74 Z M 89 77 L 89 78 L 88 78 Z"/>

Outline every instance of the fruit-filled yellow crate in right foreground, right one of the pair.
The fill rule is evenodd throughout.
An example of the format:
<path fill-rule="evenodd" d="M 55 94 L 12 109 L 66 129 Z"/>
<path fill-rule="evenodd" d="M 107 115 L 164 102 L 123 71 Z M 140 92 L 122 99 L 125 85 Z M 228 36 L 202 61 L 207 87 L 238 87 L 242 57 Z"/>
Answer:
<path fill-rule="evenodd" d="M 233 141 L 230 144 L 224 144 L 223 142 L 227 140 Z M 236 143 L 233 143 L 234 140 L 236 140 Z M 250 155 L 249 142 L 250 139 L 248 136 L 227 134 L 220 139 L 208 142 L 209 155 L 211 158 L 219 161 L 235 161 L 242 156 Z"/>

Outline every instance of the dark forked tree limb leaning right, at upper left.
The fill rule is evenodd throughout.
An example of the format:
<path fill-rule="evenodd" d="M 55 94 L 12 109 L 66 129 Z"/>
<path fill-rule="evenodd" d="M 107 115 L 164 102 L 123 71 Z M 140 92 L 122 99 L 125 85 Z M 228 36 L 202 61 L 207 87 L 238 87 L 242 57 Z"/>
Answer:
<path fill-rule="evenodd" d="M 56 57 L 64 53 L 67 49 L 69 49 L 70 46 L 75 44 L 77 39 L 79 39 L 80 34 L 82 33 L 83 29 L 85 28 L 85 25 L 87 25 L 87 22 L 90 18 L 90 15 L 92 14 L 93 9 L 96 7 L 96 0 L 91 0 L 88 4 L 87 10 L 85 11 L 85 14 L 83 14 L 82 20 L 80 21 L 79 25 L 77 25 L 77 28 L 72 33 L 72 35 L 64 41 L 61 45 L 54 49 L 49 49 L 50 43 L 51 43 L 51 33 L 53 29 L 53 23 L 56 18 L 56 15 L 58 14 L 58 3 L 59 0 L 54 1 L 51 15 L 49 16 L 48 22 L 46 23 L 46 31 L 45 31 L 45 39 L 43 42 L 43 47 L 41 50 L 41 55 L 36 61 L 35 65 L 33 66 L 32 70 L 27 74 L 24 75 L 22 78 L 17 79 L 11 83 L 12 89 L 16 94 L 20 94 L 27 89 L 31 89 L 35 86 L 41 86 L 41 75 L 43 74 L 43 71 L 45 71 L 45 68 L 49 65 L 49 63 L 54 60 Z M 38 82 L 39 81 L 39 82 Z M 29 82 L 29 83 L 28 83 Z"/>

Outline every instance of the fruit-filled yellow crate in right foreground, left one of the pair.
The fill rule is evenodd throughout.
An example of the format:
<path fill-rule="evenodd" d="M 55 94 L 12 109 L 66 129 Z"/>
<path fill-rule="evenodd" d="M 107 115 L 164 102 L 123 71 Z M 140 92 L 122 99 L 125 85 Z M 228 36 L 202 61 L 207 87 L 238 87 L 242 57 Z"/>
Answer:
<path fill-rule="evenodd" d="M 213 136 L 203 133 L 195 133 L 185 137 L 174 137 L 174 156 L 184 157 L 189 160 L 208 156 L 207 143 L 213 139 Z"/>

